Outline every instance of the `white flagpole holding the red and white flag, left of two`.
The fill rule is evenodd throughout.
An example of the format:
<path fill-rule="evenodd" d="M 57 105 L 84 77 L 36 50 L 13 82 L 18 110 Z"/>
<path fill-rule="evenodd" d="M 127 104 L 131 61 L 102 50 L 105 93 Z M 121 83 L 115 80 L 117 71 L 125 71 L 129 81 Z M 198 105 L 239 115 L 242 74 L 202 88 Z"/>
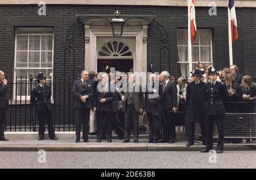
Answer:
<path fill-rule="evenodd" d="M 190 1 L 188 0 L 188 67 L 189 73 L 188 77 L 190 77 L 190 73 L 192 72 L 192 47 L 191 47 L 191 13 L 190 13 Z"/>

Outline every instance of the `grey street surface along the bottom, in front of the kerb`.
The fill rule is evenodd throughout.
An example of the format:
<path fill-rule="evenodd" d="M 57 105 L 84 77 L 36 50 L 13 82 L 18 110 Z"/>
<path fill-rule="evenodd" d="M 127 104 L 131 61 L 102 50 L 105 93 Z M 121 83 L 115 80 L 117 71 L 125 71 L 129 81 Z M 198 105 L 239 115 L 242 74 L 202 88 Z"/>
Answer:
<path fill-rule="evenodd" d="M 215 154 L 200 152 L 46 152 L 43 155 L 0 152 L 0 168 L 256 168 L 253 150 L 225 151 L 216 154 L 216 158 Z M 209 157 L 213 163 L 209 163 Z M 39 164 L 38 160 L 46 163 Z"/>

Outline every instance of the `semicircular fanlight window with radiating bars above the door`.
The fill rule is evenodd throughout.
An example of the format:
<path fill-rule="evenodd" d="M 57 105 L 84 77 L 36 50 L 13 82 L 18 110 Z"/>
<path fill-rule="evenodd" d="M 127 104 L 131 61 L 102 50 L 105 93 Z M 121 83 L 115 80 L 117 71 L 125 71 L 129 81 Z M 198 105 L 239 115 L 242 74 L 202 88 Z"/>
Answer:
<path fill-rule="evenodd" d="M 133 52 L 130 50 L 129 45 L 122 41 L 108 41 L 101 46 L 98 51 L 98 57 L 133 57 Z"/>

